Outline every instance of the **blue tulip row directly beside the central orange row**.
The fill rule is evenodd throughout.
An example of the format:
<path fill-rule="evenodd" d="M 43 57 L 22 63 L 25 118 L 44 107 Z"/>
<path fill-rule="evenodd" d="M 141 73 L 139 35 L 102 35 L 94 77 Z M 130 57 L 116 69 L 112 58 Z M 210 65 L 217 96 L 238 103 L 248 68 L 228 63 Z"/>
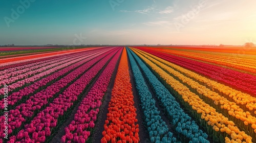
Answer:
<path fill-rule="evenodd" d="M 141 107 L 144 113 L 145 122 L 147 126 L 148 134 L 150 135 L 151 142 L 176 142 L 176 138 L 173 137 L 173 133 L 169 132 L 167 125 L 161 119 L 160 111 L 155 106 L 156 101 L 153 99 L 151 92 L 149 91 L 144 78 L 136 64 L 129 49 L 127 53 L 132 65 L 132 71 L 136 83 L 136 89 L 140 96 Z"/>

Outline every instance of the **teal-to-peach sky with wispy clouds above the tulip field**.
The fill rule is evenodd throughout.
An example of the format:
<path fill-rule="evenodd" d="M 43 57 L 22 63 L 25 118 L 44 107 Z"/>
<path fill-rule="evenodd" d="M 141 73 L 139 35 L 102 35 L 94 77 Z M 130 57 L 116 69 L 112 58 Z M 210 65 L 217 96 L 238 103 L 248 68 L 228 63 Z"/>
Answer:
<path fill-rule="evenodd" d="M 1 0 L 0 45 L 256 44 L 256 1 Z"/>

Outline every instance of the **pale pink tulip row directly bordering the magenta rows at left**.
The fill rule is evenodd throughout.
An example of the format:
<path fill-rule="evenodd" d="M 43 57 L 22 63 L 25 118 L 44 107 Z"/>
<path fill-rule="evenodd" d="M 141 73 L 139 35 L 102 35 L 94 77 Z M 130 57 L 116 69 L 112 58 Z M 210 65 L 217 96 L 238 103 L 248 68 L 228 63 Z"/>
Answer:
<path fill-rule="evenodd" d="M 89 55 L 88 57 L 90 57 L 90 55 Z M 61 68 L 63 68 L 63 67 L 66 67 L 66 66 L 68 66 L 68 65 L 70 65 L 70 64 L 73 64 L 73 63 L 75 63 L 75 62 L 77 62 L 77 61 L 80 61 L 80 60 L 82 60 L 82 59 L 84 59 L 84 58 L 88 58 L 88 57 L 81 57 L 81 58 L 79 58 L 79 59 L 77 59 L 77 60 L 70 61 L 70 62 L 68 62 L 68 63 L 62 64 L 62 65 L 59 65 L 59 66 L 55 66 L 54 68 L 51 68 L 51 69 L 46 70 L 46 71 L 43 71 L 42 73 L 37 74 L 37 75 L 34 75 L 34 76 L 29 77 L 29 78 L 27 78 L 27 79 L 17 81 L 16 83 L 13 83 L 13 84 L 11 84 L 11 85 L 8 85 L 8 91 L 9 91 L 9 92 L 10 92 L 10 91 L 13 91 L 13 90 L 15 90 L 15 89 L 18 88 L 18 87 L 22 87 L 22 86 L 25 85 L 25 84 L 34 82 L 35 80 L 38 80 L 38 79 L 40 79 L 41 77 L 44 77 L 44 76 L 49 75 L 49 74 L 51 74 L 51 73 L 54 73 L 56 70 L 59 70 L 59 69 L 61 69 Z M 9 83 L 6 83 L 6 84 L 9 84 Z M 4 94 L 4 89 L 1 88 L 1 89 L 0 89 L 0 96 L 3 95 L 3 94 Z"/>

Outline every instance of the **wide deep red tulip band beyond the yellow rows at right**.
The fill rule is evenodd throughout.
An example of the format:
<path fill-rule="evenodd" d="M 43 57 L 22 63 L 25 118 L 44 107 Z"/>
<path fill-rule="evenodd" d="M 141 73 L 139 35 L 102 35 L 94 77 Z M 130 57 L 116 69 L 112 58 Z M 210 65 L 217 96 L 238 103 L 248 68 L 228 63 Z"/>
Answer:
<path fill-rule="evenodd" d="M 224 83 L 227 86 L 231 86 L 235 89 L 239 89 L 241 91 L 249 93 L 251 94 L 251 96 L 256 96 L 256 77 L 253 75 L 241 73 L 239 71 L 234 71 L 232 69 L 216 65 L 173 56 L 159 51 L 150 50 L 146 47 L 138 47 L 138 49 L 158 56 L 159 58 L 182 66 L 189 70 L 193 70 L 196 73 L 202 74 L 220 83 Z"/>

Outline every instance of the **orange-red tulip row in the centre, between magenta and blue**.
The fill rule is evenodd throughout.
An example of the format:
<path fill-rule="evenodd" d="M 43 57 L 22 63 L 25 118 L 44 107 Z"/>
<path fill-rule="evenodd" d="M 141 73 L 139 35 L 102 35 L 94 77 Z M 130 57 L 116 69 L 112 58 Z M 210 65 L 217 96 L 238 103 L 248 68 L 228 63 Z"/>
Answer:
<path fill-rule="evenodd" d="M 126 49 L 118 66 L 109 113 L 104 124 L 101 142 L 139 142 L 139 125 L 133 101 Z"/>

